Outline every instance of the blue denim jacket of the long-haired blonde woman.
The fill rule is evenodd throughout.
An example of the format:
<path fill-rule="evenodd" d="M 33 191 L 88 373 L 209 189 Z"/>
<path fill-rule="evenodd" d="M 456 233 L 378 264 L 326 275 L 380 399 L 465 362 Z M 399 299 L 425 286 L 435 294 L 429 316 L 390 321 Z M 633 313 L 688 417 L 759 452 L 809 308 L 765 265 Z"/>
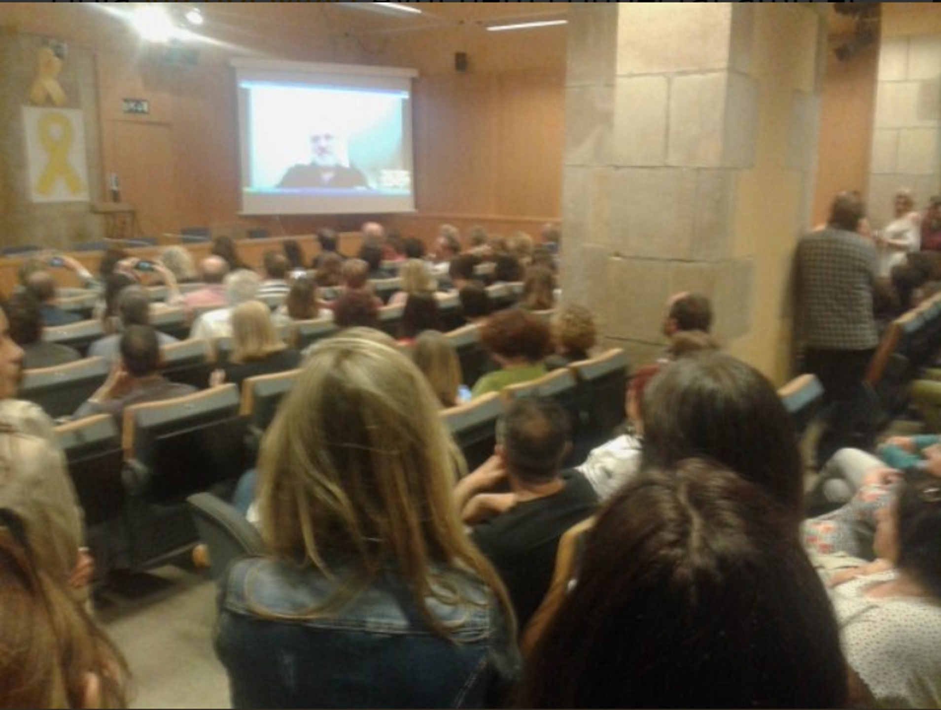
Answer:
<path fill-rule="evenodd" d="M 473 604 L 428 608 L 451 627 L 436 635 L 393 572 L 342 607 L 323 605 L 340 583 L 268 558 L 235 562 L 219 599 L 215 651 L 232 707 L 483 707 L 519 673 L 502 609 L 476 576 L 439 576 Z"/>

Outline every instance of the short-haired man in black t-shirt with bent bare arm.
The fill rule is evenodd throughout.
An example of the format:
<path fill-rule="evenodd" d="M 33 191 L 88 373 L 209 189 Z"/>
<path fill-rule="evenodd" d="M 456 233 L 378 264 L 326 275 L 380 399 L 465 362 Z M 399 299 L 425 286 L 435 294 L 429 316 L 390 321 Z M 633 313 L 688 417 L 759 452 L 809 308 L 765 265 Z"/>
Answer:
<path fill-rule="evenodd" d="M 598 507 L 581 473 L 560 470 L 570 448 L 565 409 L 515 400 L 498 421 L 494 455 L 455 488 L 461 519 L 500 574 L 520 627 L 549 591 L 559 538 Z"/>

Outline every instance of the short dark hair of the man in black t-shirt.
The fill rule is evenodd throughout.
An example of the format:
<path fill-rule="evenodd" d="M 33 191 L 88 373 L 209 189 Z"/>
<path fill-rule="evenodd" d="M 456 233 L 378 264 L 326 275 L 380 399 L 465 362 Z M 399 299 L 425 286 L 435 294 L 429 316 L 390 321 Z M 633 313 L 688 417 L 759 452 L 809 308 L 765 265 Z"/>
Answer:
<path fill-rule="evenodd" d="M 497 443 L 506 464 L 524 481 L 550 481 L 558 475 L 570 433 L 566 410 L 545 397 L 514 400 L 497 422 Z"/>

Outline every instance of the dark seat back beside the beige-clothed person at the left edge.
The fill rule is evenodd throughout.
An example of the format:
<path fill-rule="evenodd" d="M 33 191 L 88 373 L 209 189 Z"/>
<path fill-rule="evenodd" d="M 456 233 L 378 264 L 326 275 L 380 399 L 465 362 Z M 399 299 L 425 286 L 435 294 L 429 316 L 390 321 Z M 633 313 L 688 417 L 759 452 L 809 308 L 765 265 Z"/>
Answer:
<path fill-rule="evenodd" d="M 69 476 L 91 528 L 117 518 L 124 505 L 121 467 L 124 463 L 118 425 L 101 414 L 56 427 Z"/>

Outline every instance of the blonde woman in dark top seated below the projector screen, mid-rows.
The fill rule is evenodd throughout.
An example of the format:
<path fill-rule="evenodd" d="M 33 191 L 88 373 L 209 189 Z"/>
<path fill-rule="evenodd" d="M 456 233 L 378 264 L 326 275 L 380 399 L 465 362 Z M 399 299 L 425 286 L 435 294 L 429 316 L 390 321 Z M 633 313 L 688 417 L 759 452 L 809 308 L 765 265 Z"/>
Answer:
<path fill-rule="evenodd" d="M 247 301 L 232 310 L 232 350 L 229 361 L 216 373 L 213 384 L 242 387 L 248 377 L 294 370 L 300 353 L 278 338 L 271 312 L 259 301 Z"/>

